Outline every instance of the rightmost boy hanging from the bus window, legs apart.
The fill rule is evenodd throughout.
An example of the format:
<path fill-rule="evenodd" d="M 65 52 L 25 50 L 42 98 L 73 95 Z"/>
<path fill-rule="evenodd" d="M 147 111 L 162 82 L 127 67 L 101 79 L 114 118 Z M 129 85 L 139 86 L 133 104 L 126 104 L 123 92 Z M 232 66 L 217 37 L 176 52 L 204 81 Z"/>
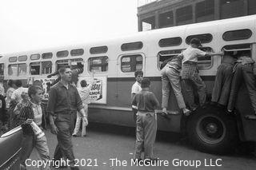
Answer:
<path fill-rule="evenodd" d="M 254 109 L 254 115 L 248 118 L 256 119 L 256 63 L 250 57 L 250 52 L 239 52 L 238 61 L 234 65 L 234 77 L 230 89 L 230 101 L 228 103 L 228 111 L 232 112 L 235 101 L 238 97 L 238 90 L 242 83 L 242 79 L 246 84 L 249 92 L 250 102 Z"/>

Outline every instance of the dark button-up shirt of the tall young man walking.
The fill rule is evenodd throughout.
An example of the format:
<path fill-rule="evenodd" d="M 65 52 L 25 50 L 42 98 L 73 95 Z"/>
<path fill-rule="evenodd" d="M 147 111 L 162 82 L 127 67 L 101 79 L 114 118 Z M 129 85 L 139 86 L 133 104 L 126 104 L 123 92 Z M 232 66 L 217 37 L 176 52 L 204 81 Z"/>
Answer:
<path fill-rule="evenodd" d="M 82 109 L 82 100 L 74 85 L 68 88 L 58 82 L 50 89 L 47 111 L 50 113 L 73 113 Z"/>

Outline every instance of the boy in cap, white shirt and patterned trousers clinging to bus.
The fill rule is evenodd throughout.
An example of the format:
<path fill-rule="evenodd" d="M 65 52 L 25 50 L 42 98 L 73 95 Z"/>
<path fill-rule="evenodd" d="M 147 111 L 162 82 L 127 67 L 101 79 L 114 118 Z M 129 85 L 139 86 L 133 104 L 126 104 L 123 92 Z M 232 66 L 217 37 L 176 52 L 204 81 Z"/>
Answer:
<path fill-rule="evenodd" d="M 194 111 L 198 108 L 194 103 L 193 85 L 197 88 L 199 104 L 204 105 L 206 102 L 206 85 L 198 75 L 198 57 L 223 55 L 223 53 L 206 53 L 198 47 L 202 46 L 198 38 L 192 38 L 190 46 L 181 54 L 182 60 L 182 81 L 184 82 L 187 101 L 190 109 Z"/>

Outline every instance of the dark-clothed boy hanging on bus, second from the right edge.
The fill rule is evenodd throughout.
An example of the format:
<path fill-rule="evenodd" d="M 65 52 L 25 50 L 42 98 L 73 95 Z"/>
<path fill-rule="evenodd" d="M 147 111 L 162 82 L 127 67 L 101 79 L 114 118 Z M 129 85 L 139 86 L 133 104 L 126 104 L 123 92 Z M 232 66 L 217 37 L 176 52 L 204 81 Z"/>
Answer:
<path fill-rule="evenodd" d="M 235 61 L 237 61 L 237 55 L 234 55 L 233 51 L 225 51 L 222 64 L 218 66 L 216 73 L 211 101 L 214 105 L 218 104 L 222 109 L 226 108 L 230 98 L 230 85 Z"/>

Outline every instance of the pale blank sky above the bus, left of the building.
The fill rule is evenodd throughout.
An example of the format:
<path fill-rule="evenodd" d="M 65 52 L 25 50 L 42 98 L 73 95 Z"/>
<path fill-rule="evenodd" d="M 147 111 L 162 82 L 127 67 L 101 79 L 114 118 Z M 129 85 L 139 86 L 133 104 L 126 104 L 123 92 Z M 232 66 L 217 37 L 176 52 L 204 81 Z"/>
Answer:
<path fill-rule="evenodd" d="M 138 32 L 137 0 L 0 0 L 0 54 Z"/>

